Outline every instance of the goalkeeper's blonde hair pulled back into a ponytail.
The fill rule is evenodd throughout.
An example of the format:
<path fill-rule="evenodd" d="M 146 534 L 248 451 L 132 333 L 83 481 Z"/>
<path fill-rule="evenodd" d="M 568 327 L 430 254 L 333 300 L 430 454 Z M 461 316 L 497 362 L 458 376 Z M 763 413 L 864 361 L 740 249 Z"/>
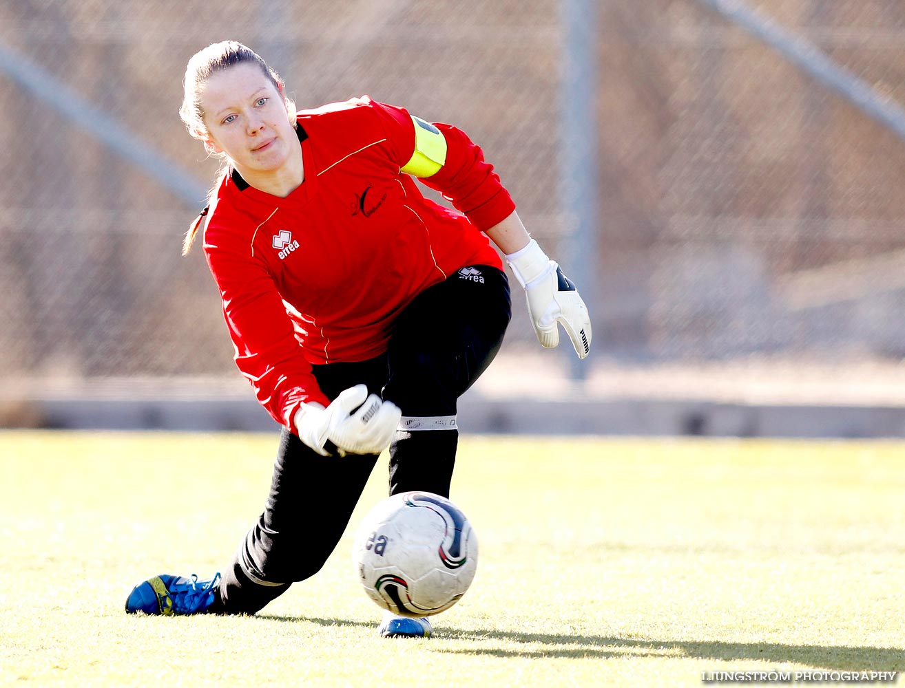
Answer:
<path fill-rule="evenodd" d="M 290 99 L 286 98 L 283 80 L 275 70 L 267 65 L 267 62 L 263 61 L 262 57 L 257 52 L 252 51 L 251 48 L 237 41 L 211 43 L 206 48 L 195 52 L 186 65 L 186 78 L 183 80 L 183 98 L 182 105 L 179 107 L 179 118 L 182 119 L 183 123 L 186 125 L 189 136 L 196 138 L 199 141 L 203 141 L 207 152 L 211 155 L 220 155 L 223 156 L 224 159 L 225 154 L 216 154 L 210 146 L 210 136 L 205 125 L 205 112 L 201 108 L 200 93 L 212 74 L 218 71 L 227 70 L 237 64 L 257 64 L 261 68 L 264 76 L 271 80 L 273 88 L 275 88 L 283 97 L 283 100 L 286 103 L 286 113 L 293 125 L 295 124 L 295 104 L 292 103 Z M 211 195 L 216 193 L 219 180 L 225 172 L 226 165 L 224 165 L 224 167 L 221 168 L 220 173 L 217 174 L 218 183 L 214 184 Z M 211 199 L 208 198 L 208 202 L 210 202 L 210 200 Z M 210 207 L 209 204 L 208 207 Z M 186 231 L 186 238 L 182 243 L 182 254 L 184 256 L 191 250 L 192 243 L 195 241 L 195 234 L 197 234 L 198 228 L 201 226 L 202 221 L 204 221 L 206 214 L 207 208 L 205 208 L 205 210 L 195 218 L 195 221 L 189 225 L 188 231 Z"/>

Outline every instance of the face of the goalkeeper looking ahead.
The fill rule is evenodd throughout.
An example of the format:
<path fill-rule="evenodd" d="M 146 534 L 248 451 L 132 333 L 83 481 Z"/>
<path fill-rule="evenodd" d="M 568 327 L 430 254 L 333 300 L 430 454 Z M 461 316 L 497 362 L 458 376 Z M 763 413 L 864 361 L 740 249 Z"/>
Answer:
<path fill-rule="evenodd" d="M 298 148 L 282 94 L 257 64 L 216 71 L 199 94 L 208 143 L 243 171 L 279 172 Z"/>

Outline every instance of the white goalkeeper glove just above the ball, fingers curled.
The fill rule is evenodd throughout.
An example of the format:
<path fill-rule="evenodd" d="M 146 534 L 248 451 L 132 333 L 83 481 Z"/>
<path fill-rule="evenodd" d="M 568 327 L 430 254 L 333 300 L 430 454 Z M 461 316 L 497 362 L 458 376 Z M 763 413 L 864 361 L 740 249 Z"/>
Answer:
<path fill-rule="evenodd" d="M 392 401 L 368 396 L 367 386 L 357 384 L 339 392 L 326 409 L 315 401 L 302 404 L 293 420 L 300 440 L 320 456 L 330 456 L 329 441 L 345 457 L 382 452 L 395 438 L 401 418 L 402 411 Z"/>

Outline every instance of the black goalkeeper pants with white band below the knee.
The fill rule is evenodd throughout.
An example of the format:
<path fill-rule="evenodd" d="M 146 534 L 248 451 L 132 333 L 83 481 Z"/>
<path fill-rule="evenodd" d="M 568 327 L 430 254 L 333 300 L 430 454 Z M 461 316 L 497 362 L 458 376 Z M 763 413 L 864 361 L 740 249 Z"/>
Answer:
<path fill-rule="evenodd" d="M 510 322 L 505 273 L 463 268 L 425 289 L 397 318 L 385 355 L 314 366 L 333 400 L 359 383 L 393 401 L 403 421 L 390 446 L 389 493 L 449 496 L 456 402 L 500 350 Z M 376 455 L 321 457 L 283 429 L 264 511 L 240 543 L 210 611 L 253 614 L 317 573 L 336 548 Z"/>

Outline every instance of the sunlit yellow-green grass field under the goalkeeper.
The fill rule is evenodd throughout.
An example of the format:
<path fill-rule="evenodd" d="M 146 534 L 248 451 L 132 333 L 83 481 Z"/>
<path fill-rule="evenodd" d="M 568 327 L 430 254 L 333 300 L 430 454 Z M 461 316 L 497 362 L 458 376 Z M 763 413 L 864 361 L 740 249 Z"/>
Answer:
<path fill-rule="evenodd" d="M 905 444 L 460 447 L 452 498 L 481 542 L 477 576 L 432 639 L 386 640 L 349 555 L 384 495 L 386 457 L 325 569 L 257 617 L 132 617 L 139 580 L 209 577 L 229 561 L 262 507 L 276 437 L 0 433 L 0 684 L 665 686 L 717 671 L 905 671 Z"/>

